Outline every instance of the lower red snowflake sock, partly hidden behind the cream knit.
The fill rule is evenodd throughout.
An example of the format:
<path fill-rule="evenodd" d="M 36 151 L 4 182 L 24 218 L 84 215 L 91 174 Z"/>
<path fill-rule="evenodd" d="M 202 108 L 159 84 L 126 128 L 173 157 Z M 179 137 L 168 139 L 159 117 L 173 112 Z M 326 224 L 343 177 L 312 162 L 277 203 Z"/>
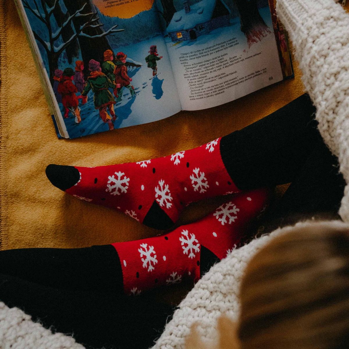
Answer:
<path fill-rule="evenodd" d="M 239 193 L 198 222 L 165 235 L 112 244 L 120 258 L 125 294 L 184 279 L 198 281 L 203 260 L 212 265 L 227 256 L 253 218 L 265 210 L 268 194 L 267 189 Z"/>

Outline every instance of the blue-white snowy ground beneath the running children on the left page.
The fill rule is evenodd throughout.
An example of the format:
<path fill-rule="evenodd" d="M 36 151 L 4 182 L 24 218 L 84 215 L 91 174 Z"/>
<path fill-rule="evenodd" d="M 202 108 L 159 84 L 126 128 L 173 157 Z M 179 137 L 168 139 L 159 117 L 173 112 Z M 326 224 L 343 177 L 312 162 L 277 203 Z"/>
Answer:
<path fill-rule="evenodd" d="M 153 78 L 152 70 L 147 67 L 144 59 L 149 54 L 150 45 L 154 44 L 157 45 L 159 56 L 162 55 L 164 58 L 157 62 L 158 75 Z M 133 79 L 132 85 L 136 96 L 132 98 L 128 89 L 124 88 L 121 102 L 114 105 L 118 116 L 114 122 L 114 128 L 161 120 L 181 110 L 166 47 L 161 36 L 133 45 L 116 47 L 113 51 L 122 51 L 127 54 L 127 58 L 142 64 L 139 68 L 128 68 L 128 75 Z M 59 104 L 59 106 L 64 113 L 63 105 Z M 82 120 L 80 124 L 75 124 L 72 114 L 64 119 L 70 138 L 108 130 L 108 125 L 104 124 L 98 110 L 95 110 L 91 91 L 88 94 L 88 102 L 85 105 L 80 104 L 80 108 Z"/>

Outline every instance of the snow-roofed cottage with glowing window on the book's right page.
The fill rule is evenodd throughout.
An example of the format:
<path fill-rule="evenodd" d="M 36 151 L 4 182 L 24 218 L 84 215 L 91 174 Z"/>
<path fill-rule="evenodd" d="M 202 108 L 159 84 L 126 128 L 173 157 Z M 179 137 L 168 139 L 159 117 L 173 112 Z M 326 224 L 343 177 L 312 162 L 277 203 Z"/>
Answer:
<path fill-rule="evenodd" d="M 230 25 L 230 9 L 224 0 L 201 0 L 189 5 L 184 0 L 184 9 L 176 12 L 167 27 L 173 42 L 195 40 L 211 30 Z"/>

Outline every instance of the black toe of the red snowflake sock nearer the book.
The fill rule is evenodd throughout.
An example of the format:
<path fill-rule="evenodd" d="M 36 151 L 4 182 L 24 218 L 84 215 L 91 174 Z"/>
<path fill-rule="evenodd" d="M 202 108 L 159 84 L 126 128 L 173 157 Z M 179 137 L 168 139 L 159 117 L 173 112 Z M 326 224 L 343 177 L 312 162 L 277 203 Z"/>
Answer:
<path fill-rule="evenodd" d="M 50 164 L 46 167 L 46 176 L 55 187 L 63 191 L 80 180 L 79 170 L 74 166 Z"/>

